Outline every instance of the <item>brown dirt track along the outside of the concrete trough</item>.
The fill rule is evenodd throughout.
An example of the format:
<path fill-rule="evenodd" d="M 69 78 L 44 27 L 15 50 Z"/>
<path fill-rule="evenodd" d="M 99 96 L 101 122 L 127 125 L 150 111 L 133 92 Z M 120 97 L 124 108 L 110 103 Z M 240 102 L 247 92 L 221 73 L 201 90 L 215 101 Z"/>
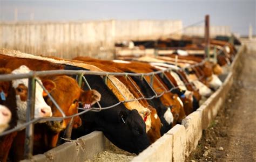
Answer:
<path fill-rule="evenodd" d="M 256 53 L 240 61 L 225 104 L 186 161 L 256 161 Z"/>

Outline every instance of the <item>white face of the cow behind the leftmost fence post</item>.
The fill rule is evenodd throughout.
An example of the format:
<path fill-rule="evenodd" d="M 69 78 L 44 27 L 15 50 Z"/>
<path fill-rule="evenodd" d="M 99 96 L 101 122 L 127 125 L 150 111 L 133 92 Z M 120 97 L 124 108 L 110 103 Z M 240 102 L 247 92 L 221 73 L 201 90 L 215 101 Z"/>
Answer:
<path fill-rule="evenodd" d="M 30 69 L 26 66 L 21 66 L 14 71 L 12 74 L 25 74 L 29 73 Z M 41 80 L 39 80 L 41 82 Z M 12 86 L 17 88 L 19 84 L 24 84 L 24 86 L 28 87 L 28 79 L 17 79 L 12 80 Z M 42 82 L 41 82 L 42 84 Z M 43 98 L 43 88 L 36 82 L 36 94 L 35 94 L 35 118 L 39 117 L 51 117 L 52 112 L 51 108 L 48 104 L 45 103 Z M 17 102 L 17 112 L 18 112 L 18 124 L 22 124 L 26 121 L 26 107 L 27 102 L 22 101 L 19 95 L 16 95 L 16 102 Z"/>

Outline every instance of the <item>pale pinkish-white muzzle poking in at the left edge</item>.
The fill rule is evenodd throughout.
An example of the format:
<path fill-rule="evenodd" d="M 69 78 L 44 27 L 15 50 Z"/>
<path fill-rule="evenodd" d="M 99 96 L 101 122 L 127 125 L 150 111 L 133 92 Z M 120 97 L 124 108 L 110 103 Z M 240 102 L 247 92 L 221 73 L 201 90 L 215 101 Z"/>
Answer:
<path fill-rule="evenodd" d="M 8 128 L 11 121 L 11 111 L 4 105 L 0 105 L 0 133 Z"/>

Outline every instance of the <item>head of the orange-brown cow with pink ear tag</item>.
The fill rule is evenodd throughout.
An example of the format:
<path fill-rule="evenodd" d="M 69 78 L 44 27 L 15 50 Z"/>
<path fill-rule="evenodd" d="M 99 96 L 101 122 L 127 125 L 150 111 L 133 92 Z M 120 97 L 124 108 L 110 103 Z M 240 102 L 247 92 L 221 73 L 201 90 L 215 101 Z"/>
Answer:
<path fill-rule="evenodd" d="M 96 90 L 81 90 L 75 79 L 69 76 L 55 76 L 52 80 L 56 84 L 56 88 L 51 91 L 52 97 L 58 103 L 59 107 L 62 108 L 66 116 L 74 115 L 78 113 L 78 102 L 81 101 L 83 106 L 85 104 L 95 104 L 100 100 L 100 94 Z M 43 80 L 43 83 L 45 80 Z M 45 84 L 44 84 L 45 85 Z M 60 111 L 52 103 L 49 97 L 46 98 L 47 103 L 52 108 L 53 116 L 62 117 Z M 73 118 L 73 128 L 78 128 L 82 121 L 79 116 Z M 51 130 L 54 132 L 60 132 L 66 128 L 70 118 L 64 119 L 63 121 L 51 121 L 47 122 Z"/>

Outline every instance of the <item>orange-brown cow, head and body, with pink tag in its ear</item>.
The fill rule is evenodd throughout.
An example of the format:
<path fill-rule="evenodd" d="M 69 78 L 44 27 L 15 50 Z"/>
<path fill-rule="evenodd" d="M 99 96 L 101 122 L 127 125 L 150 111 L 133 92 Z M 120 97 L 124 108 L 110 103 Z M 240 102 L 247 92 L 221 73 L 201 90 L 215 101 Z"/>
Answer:
<path fill-rule="evenodd" d="M 38 70 L 42 70 L 42 69 L 44 69 L 44 70 L 59 69 L 59 68 L 63 69 L 63 66 L 53 64 L 51 62 L 43 61 L 43 60 L 13 58 L 13 57 L 9 57 L 6 55 L 1 55 L 0 58 L 1 58 L 0 62 L 3 63 L 3 64 L 1 64 L 1 66 L 8 67 L 11 69 L 15 69 L 15 68 L 19 67 L 20 65 L 26 65 L 34 71 L 38 71 Z M 65 112 L 66 115 L 73 115 L 73 114 L 78 113 L 78 110 L 77 110 L 78 101 L 79 101 L 79 99 L 82 98 L 80 96 L 82 96 L 82 95 L 86 96 L 87 91 L 83 91 L 82 89 L 80 89 L 77 82 L 74 79 L 70 78 L 69 76 L 52 76 L 52 77 L 45 77 L 42 79 L 43 79 L 42 82 L 44 83 L 45 88 L 50 86 L 50 85 L 45 84 L 45 82 L 47 82 L 47 80 L 50 79 L 53 82 L 55 82 L 56 88 L 51 91 L 51 95 L 53 96 L 53 98 L 55 98 L 55 100 L 57 100 L 56 102 L 60 105 L 60 107 L 63 109 L 63 111 Z M 63 97 L 60 98 L 59 96 L 63 96 Z M 97 94 L 97 97 L 95 99 L 98 101 L 99 98 L 100 98 L 100 96 L 98 96 L 98 94 Z M 56 110 L 55 106 L 53 106 L 53 104 L 50 102 L 50 100 L 47 98 L 46 98 L 46 100 L 49 102 L 48 103 L 49 105 L 50 104 L 52 105 L 53 116 L 55 116 L 55 117 L 61 116 L 59 111 Z M 50 139 L 47 141 L 48 142 L 47 144 L 44 143 L 45 148 L 50 149 L 50 148 L 56 146 L 59 132 L 62 131 L 63 129 L 65 129 L 65 127 L 69 123 L 69 121 L 70 121 L 70 118 L 64 119 L 61 122 L 58 122 L 58 121 L 48 122 L 48 128 L 50 128 L 53 133 L 50 136 L 48 135 L 48 137 L 50 137 Z M 77 128 L 78 126 L 80 126 L 80 124 L 81 124 L 80 117 L 79 116 L 75 117 L 73 127 Z M 42 130 L 44 130 L 44 129 L 42 129 Z M 39 130 L 39 133 L 42 133 L 42 130 Z M 35 130 L 35 133 L 36 133 L 36 130 Z M 21 135 L 21 137 L 24 137 L 24 132 L 23 133 L 20 132 L 19 135 Z M 19 154 L 19 156 L 15 156 L 15 157 L 17 158 L 17 160 L 20 160 L 22 158 L 22 154 L 23 154 L 22 149 L 24 147 L 24 141 L 22 142 L 22 140 L 21 140 L 22 138 L 16 137 L 16 139 L 17 139 L 17 140 L 15 140 L 16 147 L 13 146 L 13 148 L 17 149 L 16 151 L 14 150 L 14 152 Z M 38 138 L 35 138 L 35 139 L 38 139 Z M 37 142 L 42 144 L 43 141 L 44 140 L 39 138 Z M 37 142 L 35 141 L 35 145 Z M 39 149 L 43 148 L 44 145 L 40 145 Z M 37 148 L 35 147 L 35 150 L 36 149 Z M 45 149 L 41 149 L 41 150 L 45 151 Z"/>

